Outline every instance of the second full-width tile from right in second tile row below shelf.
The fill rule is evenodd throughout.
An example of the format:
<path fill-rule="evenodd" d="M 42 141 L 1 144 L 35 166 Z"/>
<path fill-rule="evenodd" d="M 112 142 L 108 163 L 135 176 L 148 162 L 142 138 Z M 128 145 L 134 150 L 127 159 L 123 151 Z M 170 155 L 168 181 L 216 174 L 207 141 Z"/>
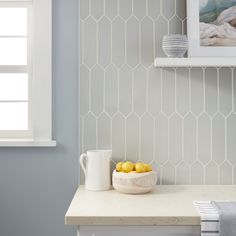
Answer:
<path fill-rule="evenodd" d="M 198 119 L 198 160 L 206 164 L 211 159 L 211 121 L 206 114 Z"/>

